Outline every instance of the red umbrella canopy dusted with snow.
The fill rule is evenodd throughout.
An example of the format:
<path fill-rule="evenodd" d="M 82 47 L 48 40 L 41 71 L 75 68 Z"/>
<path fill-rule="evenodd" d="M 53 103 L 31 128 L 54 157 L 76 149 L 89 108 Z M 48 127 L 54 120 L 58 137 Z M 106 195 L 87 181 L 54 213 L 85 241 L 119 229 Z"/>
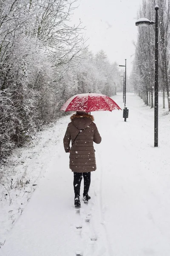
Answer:
<path fill-rule="evenodd" d="M 121 109 L 110 97 L 98 93 L 74 95 L 62 106 L 63 111 L 112 111 Z"/>

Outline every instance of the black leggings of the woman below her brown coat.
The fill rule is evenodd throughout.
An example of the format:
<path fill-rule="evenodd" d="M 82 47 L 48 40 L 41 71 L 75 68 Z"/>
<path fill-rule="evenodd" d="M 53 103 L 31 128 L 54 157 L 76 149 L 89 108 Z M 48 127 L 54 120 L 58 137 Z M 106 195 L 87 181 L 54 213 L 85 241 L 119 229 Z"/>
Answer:
<path fill-rule="evenodd" d="M 82 181 L 82 176 L 84 178 L 84 192 L 83 195 L 88 193 L 90 183 L 91 183 L 91 172 L 74 172 L 74 193 L 75 196 L 80 195 L 80 185 Z"/>

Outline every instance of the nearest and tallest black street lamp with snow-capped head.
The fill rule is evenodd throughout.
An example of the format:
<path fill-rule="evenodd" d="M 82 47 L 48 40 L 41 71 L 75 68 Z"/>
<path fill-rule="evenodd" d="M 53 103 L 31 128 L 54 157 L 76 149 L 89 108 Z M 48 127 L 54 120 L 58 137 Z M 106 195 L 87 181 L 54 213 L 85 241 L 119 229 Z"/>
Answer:
<path fill-rule="evenodd" d="M 155 6 L 155 22 L 146 18 L 136 21 L 136 26 L 148 26 L 155 24 L 155 106 L 154 106 L 154 147 L 158 147 L 158 10 Z"/>

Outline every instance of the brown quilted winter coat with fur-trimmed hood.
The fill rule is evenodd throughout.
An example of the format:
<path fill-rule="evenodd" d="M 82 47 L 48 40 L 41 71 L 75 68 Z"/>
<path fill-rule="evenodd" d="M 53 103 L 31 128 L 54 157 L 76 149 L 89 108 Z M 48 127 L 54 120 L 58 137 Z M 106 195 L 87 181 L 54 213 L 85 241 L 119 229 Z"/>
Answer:
<path fill-rule="evenodd" d="M 68 124 L 63 142 L 65 152 L 71 150 L 70 169 L 72 172 L 92 172 L 96 170 L 93 142 L 99 144 L 102 138 L 93 121 L 94 117 L 88 114 L 74 114 L 71 116 L 71 122 Z M 70 142 L 73 143 L 71 148 Z"/>

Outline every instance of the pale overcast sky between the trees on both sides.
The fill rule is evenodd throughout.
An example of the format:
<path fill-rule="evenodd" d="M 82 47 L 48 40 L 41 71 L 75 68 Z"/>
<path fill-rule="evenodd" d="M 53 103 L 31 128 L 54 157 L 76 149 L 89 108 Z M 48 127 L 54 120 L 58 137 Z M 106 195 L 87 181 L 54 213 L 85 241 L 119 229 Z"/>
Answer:
<path fill-rule="evenodd" d="M 120 65 L 127 58 L 128 75 L 138 32 L 136 14 L 141 3 L 142 0 L 78 0 L 79 7 L 74 12 L 74 22 L 78 23 L 80 18 L 86 27 L 89 49 L 94 53 L 103 49 L 111 62 Z"/>

